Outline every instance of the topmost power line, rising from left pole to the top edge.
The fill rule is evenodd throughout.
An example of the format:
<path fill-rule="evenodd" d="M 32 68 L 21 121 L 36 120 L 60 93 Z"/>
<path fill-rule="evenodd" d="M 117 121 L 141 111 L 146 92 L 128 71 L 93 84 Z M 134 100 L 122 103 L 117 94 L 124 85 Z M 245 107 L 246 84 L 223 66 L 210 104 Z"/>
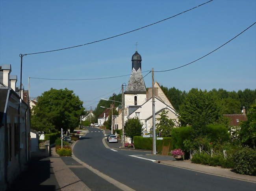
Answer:
<path fill-rule="evenodd" d="M 38 52 L 38 53 L 24 54 L 24 55 L 22 55 L 22 56 L 25 56 L 25 55 L 35 55 L 35 54 L 41 54 L 41 53 L 49 53 L 49 52 L 54 52 L 54 51 L 61 51 L 61 50 L 65 50 L 65 49 L 70 49 L 70 48 L 80 47 L 80 46 L 84 46 L 84 45 L 88 45 L 88 44 L 93 44 L 93 43 L 100 42 L 100 41 L 103 41 L 103 40 L 108 40 L 108 39 L 110 39 L 110 38 L 115 38 L 115 37 L 117 37 L 117 36 L 126 35 L 126 34 L 128 34 L 128 33 L 132 33 L 132 32 L 134 32 L 134 31 L 138 31 L 138 30 L 140 30 L 140 29 L 149 27 L 149 26 L 154 25 L 154 24 L 158 24 L 158 23 L 160 23 L 160 22 L 163 22 L 163 21 L 168 20 L 168 19 L 170 19 L 170 18 L 173 18 L 173 17 L 175 17 L 175 16 L 178 16 L 178 15 L 181 15 L 181 14 L 183 14 L 183 13 L 186 13 L 186 12 L 188 12 L 188 11 L 191 11 L 192 9 L 195 9 L 195 8 L 197 8 L 197 7 L 200 7 L 200 6 L 202 6 L 202 5 L 205 5 L 205 4 L 207 4 L 207 3 L 211 2 L 211 1 L 213 1 L 213 0 L 210 0 L 210 1 L 205 2 L 205 3 L 203 3 L 203 4 L 197 5 L 196 7 L 193 7 L 193 8 L 191 8 L 191 9 L 188 9 L 188 10 L 183 11 L 183 12 L 181 12 L 181 13 L 178 13 L 178 14 L 176 14 L 176 15 L 170 16 L 170 17 L 165 18 L 165 19 L 163 19 L 163 20 L 160 20 L 160 21 L 158 21 L 158 22 L 154 22 L 154 23 L 152 23 L 152 24 L 149 24 L 149 25 L 146 25 L 146 26 L 143 26 L 143 27 L 134 29 L 134 30 L 132 30 L 132 31 L 128 31 L 128 32 L 122 33 L 122 34 L 120 34 L 120 35 L 115 35 L 115 36 L 111 36 L 111 37 L 108 37 L 108 38 L 103 38 L 103 39 L 101 39 L 101 40 L 96 40 L 96 41 L 89 42 L 89 43 L 86 43 L 86 44 L 81 44 L 81 45 L 76 45 L 76 46 L 72 46 L 72 47 L 61 48 L 61 49 L 56 49 L 56 50 L 51 50 L 51 51 L 44 51 L 44 52 Z"/>

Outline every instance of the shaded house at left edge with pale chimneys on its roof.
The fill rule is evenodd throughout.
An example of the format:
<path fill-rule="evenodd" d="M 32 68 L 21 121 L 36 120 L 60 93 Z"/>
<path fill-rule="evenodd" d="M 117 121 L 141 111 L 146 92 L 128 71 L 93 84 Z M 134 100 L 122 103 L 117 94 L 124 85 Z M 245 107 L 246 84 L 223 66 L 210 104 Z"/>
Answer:
<path fill-rule="evenodd" d="M 11 65 L 0 65 L 0 190 L 25 169 L 30 159 L 30 109 L 17 92 Z"/>

